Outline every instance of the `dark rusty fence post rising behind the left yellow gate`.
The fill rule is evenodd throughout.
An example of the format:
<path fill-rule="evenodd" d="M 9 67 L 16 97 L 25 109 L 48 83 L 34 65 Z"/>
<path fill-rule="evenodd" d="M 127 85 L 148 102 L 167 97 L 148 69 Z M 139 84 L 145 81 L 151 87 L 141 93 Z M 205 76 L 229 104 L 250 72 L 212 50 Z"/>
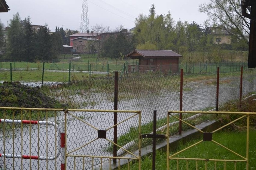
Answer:
<path fill-rule="evenodd" d="M 118 72 L 115 71 L 115 89 L 114 89 L 114 110 L 117 110 L 118 104 Z M 114 113 L 114 125 L 117 124 L 117 113 Z M 114 126 L 114 140 L 113 142 L 117 144 L 117 125 Z M 117 145 L 113 146 L 113 157 L 117 156 Z M 117 163 L 117 159 L 113 159 L 113 163 Z"/>

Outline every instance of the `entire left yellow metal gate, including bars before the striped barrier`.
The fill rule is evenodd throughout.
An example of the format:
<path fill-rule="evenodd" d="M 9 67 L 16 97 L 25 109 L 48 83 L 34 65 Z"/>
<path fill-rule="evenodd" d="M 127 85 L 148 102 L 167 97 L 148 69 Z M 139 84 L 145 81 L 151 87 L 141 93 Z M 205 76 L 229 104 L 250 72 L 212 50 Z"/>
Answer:
<path fill-rule="evenodd" d="M 136 127 L 139 154 L 113 142 L 114 127 L 117 136 Z M 0 107 L 0 169 L 111 169 L 133 160 L 140 165 L 140 133 L 140 111 Z M 113 156 L 114 146 L 122 155 Z"/>

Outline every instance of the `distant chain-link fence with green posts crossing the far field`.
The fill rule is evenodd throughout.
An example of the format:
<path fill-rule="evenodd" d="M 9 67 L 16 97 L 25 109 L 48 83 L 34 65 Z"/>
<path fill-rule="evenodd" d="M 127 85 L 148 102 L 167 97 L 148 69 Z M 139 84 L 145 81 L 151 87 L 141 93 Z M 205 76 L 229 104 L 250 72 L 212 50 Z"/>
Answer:
<path fill-rule="evenodd" d="M 28 62 L 28 61 L 1 61 L 0 60 L 0 82 L 20 81 L 24 84 L 52 83 L 83 81 L 95 77 L 109 77 L 114 75 L 114 70 L 120 71 L 121 75 L 126 72 L 152 72 L 173 75 L 184 70 L 184 74 L 191 73 L 215 73 L 217 67 L 221 73 L 240 71 L 248 67 L 241 62 L 225 63 L 181 63 L 180 65 L 146 65 L 140 66 L 137 60 L 97 60 L 97 59 L 61 59 L 51 62 Z"/>

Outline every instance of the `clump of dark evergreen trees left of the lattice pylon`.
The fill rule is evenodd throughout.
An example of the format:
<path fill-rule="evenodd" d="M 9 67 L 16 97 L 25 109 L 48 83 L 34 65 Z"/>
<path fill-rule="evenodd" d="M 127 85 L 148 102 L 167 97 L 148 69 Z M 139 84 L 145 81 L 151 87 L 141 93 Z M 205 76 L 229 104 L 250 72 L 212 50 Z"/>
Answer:
<path fill-rule="evenodd" d="M 70 35 L 74 33 L 77 31 L 68 32 Z M 51 62 L 62 53 L 62 45 L 69 43 L 69 39 L 62 27 L 56 27 L 52 34 L 47 24 L 35 30 L 32 28 L 30 17 L 21 20 L 19 13 L 16 13 L 8 25 L 6 44 L 3 44 L 3 40 L 1 43 L 1 47 L 5 46 L 4 59 Z"/>

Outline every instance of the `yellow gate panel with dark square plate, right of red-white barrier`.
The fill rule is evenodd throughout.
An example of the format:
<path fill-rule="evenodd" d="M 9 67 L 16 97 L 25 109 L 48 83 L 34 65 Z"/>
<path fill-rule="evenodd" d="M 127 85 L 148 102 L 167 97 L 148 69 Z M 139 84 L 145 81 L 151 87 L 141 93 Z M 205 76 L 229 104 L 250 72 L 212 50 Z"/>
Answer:
<path fill-rule="evenodd" d="M 117 124 L 113 125 L 113 113 L 118 113 L 121 119 Z M 97 115 L 97 116 L 96 116 Z M 125 116 L 126 115 L 126 116 Z M 87 116 L 88 119 L 84 119 Z M 131 120 L 132 119 L 132 120 Z M 118 126 L 118 130 L 122 129 L 120 127 L 126 126 L 126 122 L 136 121 L 136 127 L 138 127 L 138 148 L 139 155 L 133 153 L 129 149 L 114 143 L 113 141 L 113 128 Z M 72 122 L 79 122 L 79 131 L 87 130 L 90 135 L 86 136 L 87 139 L 77 137 L 72 139 L 73 136 L 70 133 L 74 130 L 70 130 L 69 125 Z M 124 163 L 128 163 L 132 160 L 136 160 L 141 164 L 140 158 L 140 148 L 141 139 L 139 134 L 141 133 L 141 112 L 140 111 L 125 111 L 125 110 L 75 110 L 69 109 L 65 111 L 65 165 L 66 169 L 112 169 L 120 168 Z M 75 125 L 76 126 L 76 125 Z M 86 133 L 84 133 L 86 134 Z M 71 137 L 70 137 L 71 136 Z M 73 145 L 70 145 L 72 144 Z M 93 148 L 95 146 L 100 146 L 100 148 Z M 119 150 L 123 150 L 126 156 L 117 155 L 113 156 L 112 148 L 117 146 Z M 102 152 L 97 152 L 97 149 L 102 149 Z M 108 149 L 111 152 L 108 152 Z M 116 163 L 113 161 L 116 160 Z M 140 169 L 140 167 L 138 167 Z"/>

